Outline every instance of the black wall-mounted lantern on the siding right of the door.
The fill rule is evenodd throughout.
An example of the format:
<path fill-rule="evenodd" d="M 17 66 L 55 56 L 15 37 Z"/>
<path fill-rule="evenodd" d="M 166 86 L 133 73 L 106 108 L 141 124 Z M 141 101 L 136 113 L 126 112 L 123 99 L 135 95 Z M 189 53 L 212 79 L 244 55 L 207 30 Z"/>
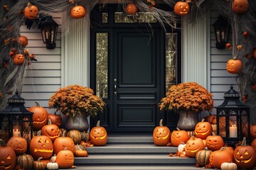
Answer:
<path fill-rule="evenodd" d="M 218 20 L 213 23 L 213 27 L 215 30 L 216 48 L 224 49 L 230 34 L 228 21 L 223 16 L 219 16 Z"/>

